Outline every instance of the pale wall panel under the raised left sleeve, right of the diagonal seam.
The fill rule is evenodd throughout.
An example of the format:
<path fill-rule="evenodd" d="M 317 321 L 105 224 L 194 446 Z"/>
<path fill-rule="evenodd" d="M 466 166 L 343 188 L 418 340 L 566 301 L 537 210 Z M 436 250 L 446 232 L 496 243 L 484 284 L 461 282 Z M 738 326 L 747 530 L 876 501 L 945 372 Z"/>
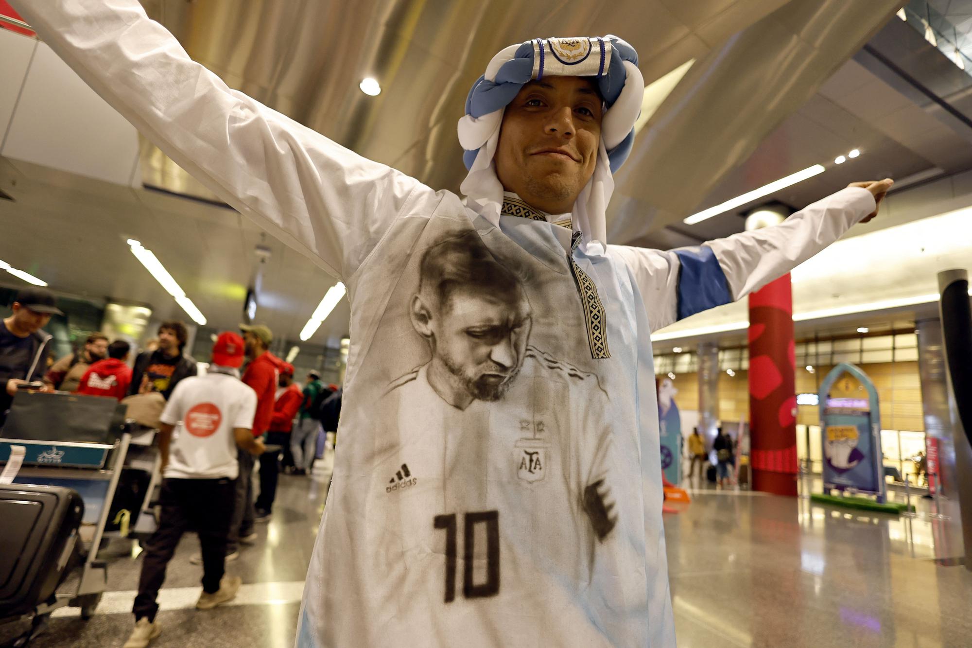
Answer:
<path fill-rule="evenodd" d="M 127 185 L 138 133 L 39 43 L 0 154 Z"/>

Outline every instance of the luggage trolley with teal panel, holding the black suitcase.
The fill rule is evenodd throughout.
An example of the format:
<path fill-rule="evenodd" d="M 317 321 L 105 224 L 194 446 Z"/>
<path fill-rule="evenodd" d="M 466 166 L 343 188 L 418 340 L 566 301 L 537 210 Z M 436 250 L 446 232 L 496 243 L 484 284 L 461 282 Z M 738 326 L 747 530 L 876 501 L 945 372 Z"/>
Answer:
<path fill-rule="evenodd" d="M 10 608 L 21 610 L 14 615 L 0 607 L 0 624 L 32 617 L 34 630 L 31 636 L 36 636 L 43 631 L 51 612 L 59 607 L 80 607 L 82 619 L 90 619 L 107 589 L 108 566 L 105 561 L 98 560 L 97 555 L 102 539 L 106 537 L 105 528 L 111 522 L 111 505 L 132 435 L 130 425 L 123 423 L 124 408 L 114 400 L 61 393 L 28 393 L 26 396 L 17 395 L 7 423 L 0 430 L 0 463 L 8 463 L 14 448 L 24 449 L 23 464 L 14 483 L 4 488 L 16 490 L 17 486 L 42 486 L 35 490 L 43 492 L 43 486 L 52 486 L 52 491 L 76 491 L 84 502 L 79 531 L 81 525 L 93 529 L 87 552 L 82 547 L 81 533 L 77 533 L 78 537 L 73 541 L 76 542 L 76 555 L 83 559 L 76 590 L 51 594 L 44 600 L 19 601 L 19 606 Z M 18 405 L 22 407 L 18 408 Z M 83 417 L 87 415 L 87 420 L 79 421 L 75 417 L 65 425 L 56 424 L 64 422 L 65 412 L 71 411 Z M 57 412 L 61 414 L 52 414 Z M 17 453 L 20 451 L 17 449 Z M 144 509 L 144 505 L 141 508 Z M 44 569 L 35 571 L 37 574 L 47 573 Z M 72 570 L 64 569 L 58 586 L 63 584 L 68 571 Z M 50 578 L 50 575 L 38 576 L 41 577 Z M 37 591 L 31 584 L 24 584 L 23 591 L 30 590 Z M 28 611 L 23 612 L 23 609 Z"/>

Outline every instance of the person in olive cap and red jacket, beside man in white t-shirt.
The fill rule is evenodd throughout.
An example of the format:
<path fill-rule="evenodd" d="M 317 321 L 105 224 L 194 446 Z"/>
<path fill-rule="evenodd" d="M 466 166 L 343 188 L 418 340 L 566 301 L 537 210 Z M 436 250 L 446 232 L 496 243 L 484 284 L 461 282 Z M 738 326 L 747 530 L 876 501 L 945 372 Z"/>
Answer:
<path fill-rule="evenodd" d="M 246 357 L 250 361 L 243 372 L 243 382 L 257 392 L 257 414 L 253 419 L 253 436 L 260 437 L 270 428 L 273 418 L 273 402 L 277 395 L 277 376 L 281 361 L 267 349 L 273 342 L 273 332 L 265 324 L 240 324 Z M 229 524 L 229 545 L 226 554 L 239 550 L 239 543 L 251 544 L 257 538 L 254 530 L 256 513 L 253 501 L 254 458 L 249 452 L 240 451 L 239 477 L 236 478 L 236 500 L 233 518 Z"/>

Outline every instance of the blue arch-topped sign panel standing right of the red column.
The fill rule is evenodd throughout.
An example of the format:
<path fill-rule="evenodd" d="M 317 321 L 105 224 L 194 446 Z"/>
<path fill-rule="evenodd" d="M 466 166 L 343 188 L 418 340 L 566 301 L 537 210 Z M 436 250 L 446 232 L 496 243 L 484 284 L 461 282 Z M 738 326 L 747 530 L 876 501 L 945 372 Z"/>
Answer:
<path fill-rule="evenodd" d="M 856 378 L 863 389 L 851 397 L 835 397 L 833 387 L 846 375 Z M 824 492 L 852 489 L 884 502 L 881 411 L 874 382 L 855 365 L 841 363 L 823 379 L 819 408 Z"/>

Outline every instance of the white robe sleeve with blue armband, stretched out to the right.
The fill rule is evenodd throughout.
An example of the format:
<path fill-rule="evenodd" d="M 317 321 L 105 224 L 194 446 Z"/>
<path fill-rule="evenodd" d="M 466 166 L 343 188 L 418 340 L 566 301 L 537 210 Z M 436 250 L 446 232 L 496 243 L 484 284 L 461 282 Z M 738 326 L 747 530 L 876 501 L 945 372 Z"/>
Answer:
<path fill-rule="evenodd" d="M 793 270 L 875 210 L 871 192 L 849 187 L 817 200 L 780 225 L 663 252 L 608 250 L 632 273 L 657 331 L 702 310 L 740 300 Z"/>

